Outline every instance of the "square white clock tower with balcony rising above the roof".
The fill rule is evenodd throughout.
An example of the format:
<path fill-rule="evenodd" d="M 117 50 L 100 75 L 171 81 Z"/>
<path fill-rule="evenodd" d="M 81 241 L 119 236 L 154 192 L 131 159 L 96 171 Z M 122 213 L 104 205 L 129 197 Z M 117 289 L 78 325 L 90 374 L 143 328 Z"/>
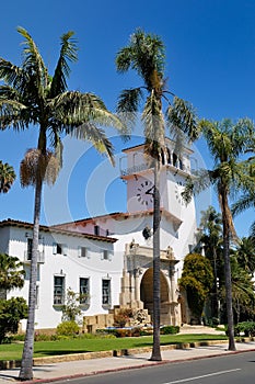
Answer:
<path fill-rule="evenodd" d="M 166 138 L 166 148 L 162 153 L 160 177 L 161 208 L 178 219 L 192 214 L 195 216 L 194 202 L 188 205 L 182 199 L 185 181 L 190 176 L 190 155 L 185 147 L 182 157 L 174 153 L 175 143 Z M 127 211 L 129 213 L 153 208 L 153 169 L 148 166 L 143 145 L 124 149 L 127 167 L 120 169 L 121 179 L 127 182 Z M 189 216 L 190 218 L 190 216 Z"/>

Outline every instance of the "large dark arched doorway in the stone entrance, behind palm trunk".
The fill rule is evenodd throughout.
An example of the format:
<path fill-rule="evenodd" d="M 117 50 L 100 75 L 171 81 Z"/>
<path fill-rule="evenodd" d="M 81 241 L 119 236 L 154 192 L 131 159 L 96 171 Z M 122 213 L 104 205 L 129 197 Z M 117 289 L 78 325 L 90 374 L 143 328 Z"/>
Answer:
<path fill-rule="evenodd" d="M 160 272 L 160 290 L 161 290 L 161 319 L 167 318 L 170 292 L 166 279 Z M 148 309 L 149 315 L 153 316 L 153 270 L 148 269 L 142 276 L 140 285 L 140 298 L 143 302 L 144 309 Z M 165 317 L 166 316 L 166 317 Z M 164 321 L 165 323 L 165 321 Z"/>

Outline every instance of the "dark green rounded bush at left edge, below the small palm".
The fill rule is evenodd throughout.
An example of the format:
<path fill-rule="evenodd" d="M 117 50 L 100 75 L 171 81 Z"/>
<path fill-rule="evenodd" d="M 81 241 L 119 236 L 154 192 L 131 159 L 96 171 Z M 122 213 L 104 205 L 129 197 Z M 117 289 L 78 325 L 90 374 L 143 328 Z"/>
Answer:
<path fill-rule="evenodd" d="M 20 320 L 27 318 L 27 309 L 23 297 L 0 301 L 0 343 L 8 332 L 18 332 Z"/>

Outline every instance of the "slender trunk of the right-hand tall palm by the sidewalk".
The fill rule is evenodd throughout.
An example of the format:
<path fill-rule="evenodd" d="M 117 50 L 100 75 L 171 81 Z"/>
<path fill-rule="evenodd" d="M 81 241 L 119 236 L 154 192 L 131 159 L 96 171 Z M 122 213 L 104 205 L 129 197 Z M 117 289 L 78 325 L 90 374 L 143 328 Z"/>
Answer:
<path fill-rule="evenodd" d="M 230 210 L 229 210 L 228 196 L 225 191 L 221 193 L 221 210 L 222 210 L 222 222 L 223 222 L 223 255 L 224 255 L 225 304 L 227 304 L 228 331 L 229 331 L 229 350 L 235 351 L 234 319 L 233 319 L 233 304 L 232 304 L 232 279 L 231 279 L 231 264 L 230 264 L 230 225 L 229 225 Z"/>

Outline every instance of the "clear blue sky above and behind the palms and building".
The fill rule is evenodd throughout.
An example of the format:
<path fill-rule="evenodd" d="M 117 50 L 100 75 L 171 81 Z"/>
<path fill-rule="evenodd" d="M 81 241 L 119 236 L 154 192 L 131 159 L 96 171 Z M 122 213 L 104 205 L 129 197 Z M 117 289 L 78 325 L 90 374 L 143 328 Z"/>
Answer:
<path fill-rule="evenodd" d="M 95 92 L 114 111 L 119 91 L 140 84 L 135 74 L 123 76 L 116 72 L 116 53 L 127 44 L 129 35 L 137 27 L 142 27 L 162 37 L 166 47 L 169 88 L 192 102 L 199 117 L 254 118 L 254 0 L 13 0 L 1 4 L 0 55 L 20 64 L 22 38 L 16 32 L 20 25 L 31 33 L 49 71 L 53 71 L 59 53 L 59 37 L 72 30 L 80 50 L 79 61 L 71 67 L 69 89 Z M 137 144 L 140 139 L 136 137 L 124 145 L 113 137 L 113 132 L 109 135 L 118 156 L 121 147 Z M 36 140 L 35 127 L 20 134 L 1 132 L 0 159 L 11 163 L 19 174 L 19 163 L 24 153 L 35 147 Z M 204 143 L 199 142 L 196 147 L 206 165 L 210 166 Z M 71 161 L 68 156 L 66 165 Z M 111 182 L 104 181 L 104 206 L 95 204 L 90 210 L 88 202 L 92 204 L 90 199 L 93 193 L 88 192 L 88 185 L 93 174 L 98 177 L 101 166 L 93 150 L 88 147 L 81 149 L 71 172 L 69 170 L 65 197 L 72 218 L 100 214 L 98 211 L 126 210 L 125 184 L 118 180 L 118 165 L 114 171 L 109 171 L 107 165 L 104 167 L 104 170 L 112 172 Z M 60 182 L 56 188 L 59 191 Z M 201 200 L 204 204 L 208 201 L 215 203 L 215 199 L 208 194 L 207 199 L 202 196 Z M 54 189 L 46 189 L 45 202 L 46 211 L 58 206 L 55 219 L 70 218 L 62 212 L 58 197 L 54 199 Z M 250 211 L 235 221 L 241 236 L 247 235 L 253 216 L 254 213 Z M 28 222 L 33 218 L 33 190 L 21 190 L 19 179 L 9 194 L 0 195 L 0 219 L 7 217 Z M 49 221 L 45 210 L 42 221 L 46 224 Z"/>

